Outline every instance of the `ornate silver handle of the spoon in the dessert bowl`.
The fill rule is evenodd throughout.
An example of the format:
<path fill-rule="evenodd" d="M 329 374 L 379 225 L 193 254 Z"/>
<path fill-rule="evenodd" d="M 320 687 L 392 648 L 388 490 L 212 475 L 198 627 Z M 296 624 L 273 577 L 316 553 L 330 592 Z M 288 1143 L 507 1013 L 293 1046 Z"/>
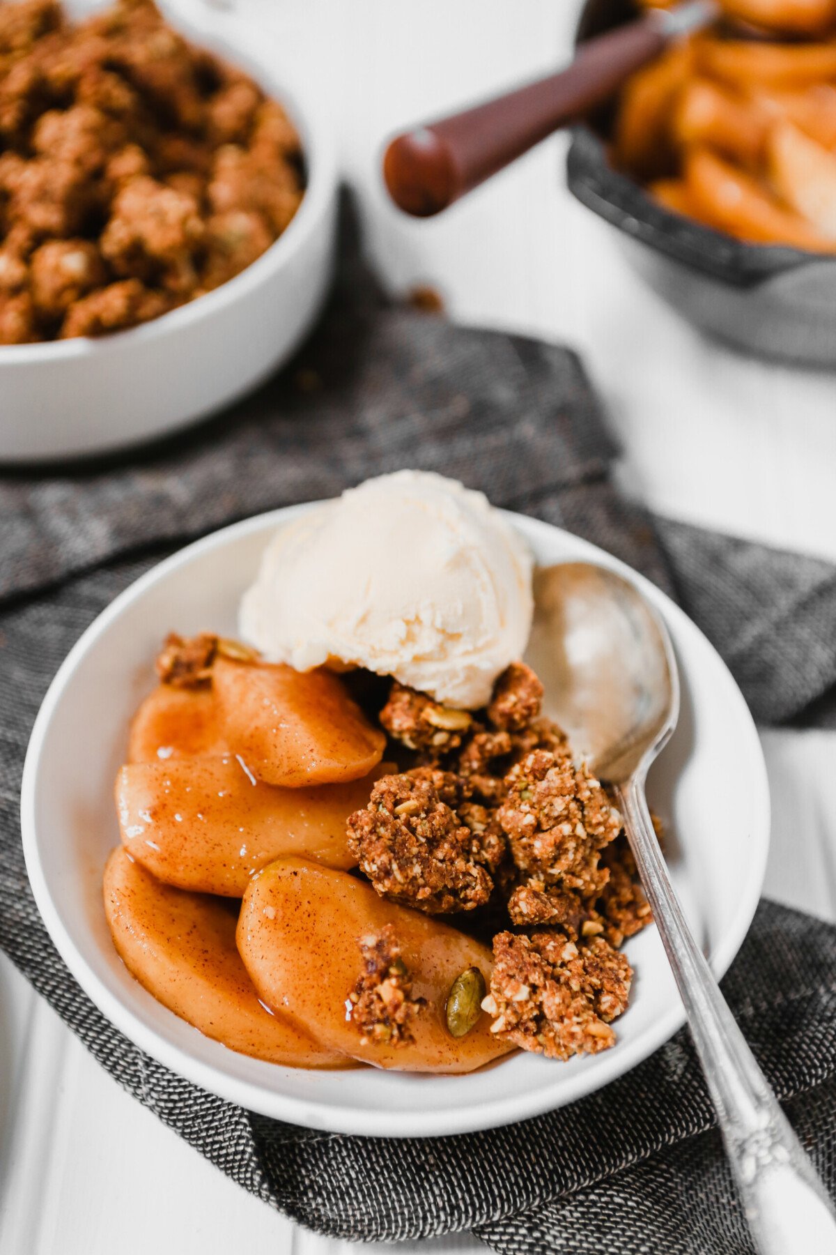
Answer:
<path fill-rule="evenodd" d="M 668 877 L 644 772 L 618 789 L 627 836 L 688 1015 L 726 1151 L 760 1255 L 836 1255 L 825 1187 L 746 1044 Z"/>

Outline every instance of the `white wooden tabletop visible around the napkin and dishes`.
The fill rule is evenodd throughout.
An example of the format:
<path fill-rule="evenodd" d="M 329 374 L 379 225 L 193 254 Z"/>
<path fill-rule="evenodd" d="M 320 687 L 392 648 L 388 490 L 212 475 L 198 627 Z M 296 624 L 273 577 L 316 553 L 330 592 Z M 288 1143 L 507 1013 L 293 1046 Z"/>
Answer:
<path fill-rule="evenodd" d="M 836 560 L 836 375 L 748 361 L 699 339 L 568 197 L 560 139 L 437 222 L 410 222 L 384 201 L 381 137 L 549 69 L 569 46 L 574 0 L 239 8 L 321 84 L 392 290 L 430 282 L 456 320 L 575 346 L 622 442 L 622 484 L 656 510 Z M 766 892 L 836 919 L 836 737 L 770 732 L 763 744 Z M 206 1163 L 118 1088 L 0 956 L 1 1255 L 247 1249 L 350 1247 L 296 1229 Z M 475 1249 L 468 1236 L 420 1245 L 421 1255 Z"/>

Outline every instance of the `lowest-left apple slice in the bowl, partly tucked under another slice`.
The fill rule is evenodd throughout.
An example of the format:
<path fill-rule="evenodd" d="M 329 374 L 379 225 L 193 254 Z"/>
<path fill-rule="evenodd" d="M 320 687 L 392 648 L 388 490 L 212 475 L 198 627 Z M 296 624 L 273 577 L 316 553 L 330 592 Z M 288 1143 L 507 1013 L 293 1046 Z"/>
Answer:
<path fill-rule="evenodd" d="M 125 968 L 149 994 L 231 1050 L 292 1068 L 350 1067 L 258 1001 L 226 902 L 160 885 L 122 847 L 104 870 L 104 910 Z"/>

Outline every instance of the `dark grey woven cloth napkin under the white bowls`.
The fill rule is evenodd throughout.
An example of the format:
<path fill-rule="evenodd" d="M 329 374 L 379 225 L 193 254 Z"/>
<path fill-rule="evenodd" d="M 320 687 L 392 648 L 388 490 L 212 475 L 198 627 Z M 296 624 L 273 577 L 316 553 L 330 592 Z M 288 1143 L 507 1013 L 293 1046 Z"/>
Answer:
<path fill-rule="evenodd" d="M 389 304 L 348 216 L 318 331 L 256 395 L 142 456 L 0 476 L 0 946 L 130 1093 L 322 1232 L 473 1229 L 509 1255 L 751 1251 L 684 1030 L 572 1107 L 397 1143 L 266 1119 L 133 1047 L 64 968 L 26 881 L 18 797 L 38 705 L 83 629 L 175 545 L 411 466 L 583 535 L 656 580 L 717 645 L 761 722 L 836 725 L 836 571 L 648 517 L 614 492 L 615 456 L 572 353 Z M 724 990 L 836 1188 L 836 930 L 762 902 Z"/>

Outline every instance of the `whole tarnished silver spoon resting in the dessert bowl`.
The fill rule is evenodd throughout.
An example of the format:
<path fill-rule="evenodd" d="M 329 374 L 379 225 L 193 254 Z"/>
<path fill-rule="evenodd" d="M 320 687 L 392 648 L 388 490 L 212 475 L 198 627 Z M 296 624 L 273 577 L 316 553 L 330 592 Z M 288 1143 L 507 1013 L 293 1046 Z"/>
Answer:
<path fill-rule="evenodd" d="M 529 655 L 572 744 L 618 794 L 624 827 L 761 1255 L 836 1255 L 836 1215 L 688 927 L 653 832 L 647 773 L 679 715 L 667 629 L 627 580 L 569 562 L 535 576 Z"/>

